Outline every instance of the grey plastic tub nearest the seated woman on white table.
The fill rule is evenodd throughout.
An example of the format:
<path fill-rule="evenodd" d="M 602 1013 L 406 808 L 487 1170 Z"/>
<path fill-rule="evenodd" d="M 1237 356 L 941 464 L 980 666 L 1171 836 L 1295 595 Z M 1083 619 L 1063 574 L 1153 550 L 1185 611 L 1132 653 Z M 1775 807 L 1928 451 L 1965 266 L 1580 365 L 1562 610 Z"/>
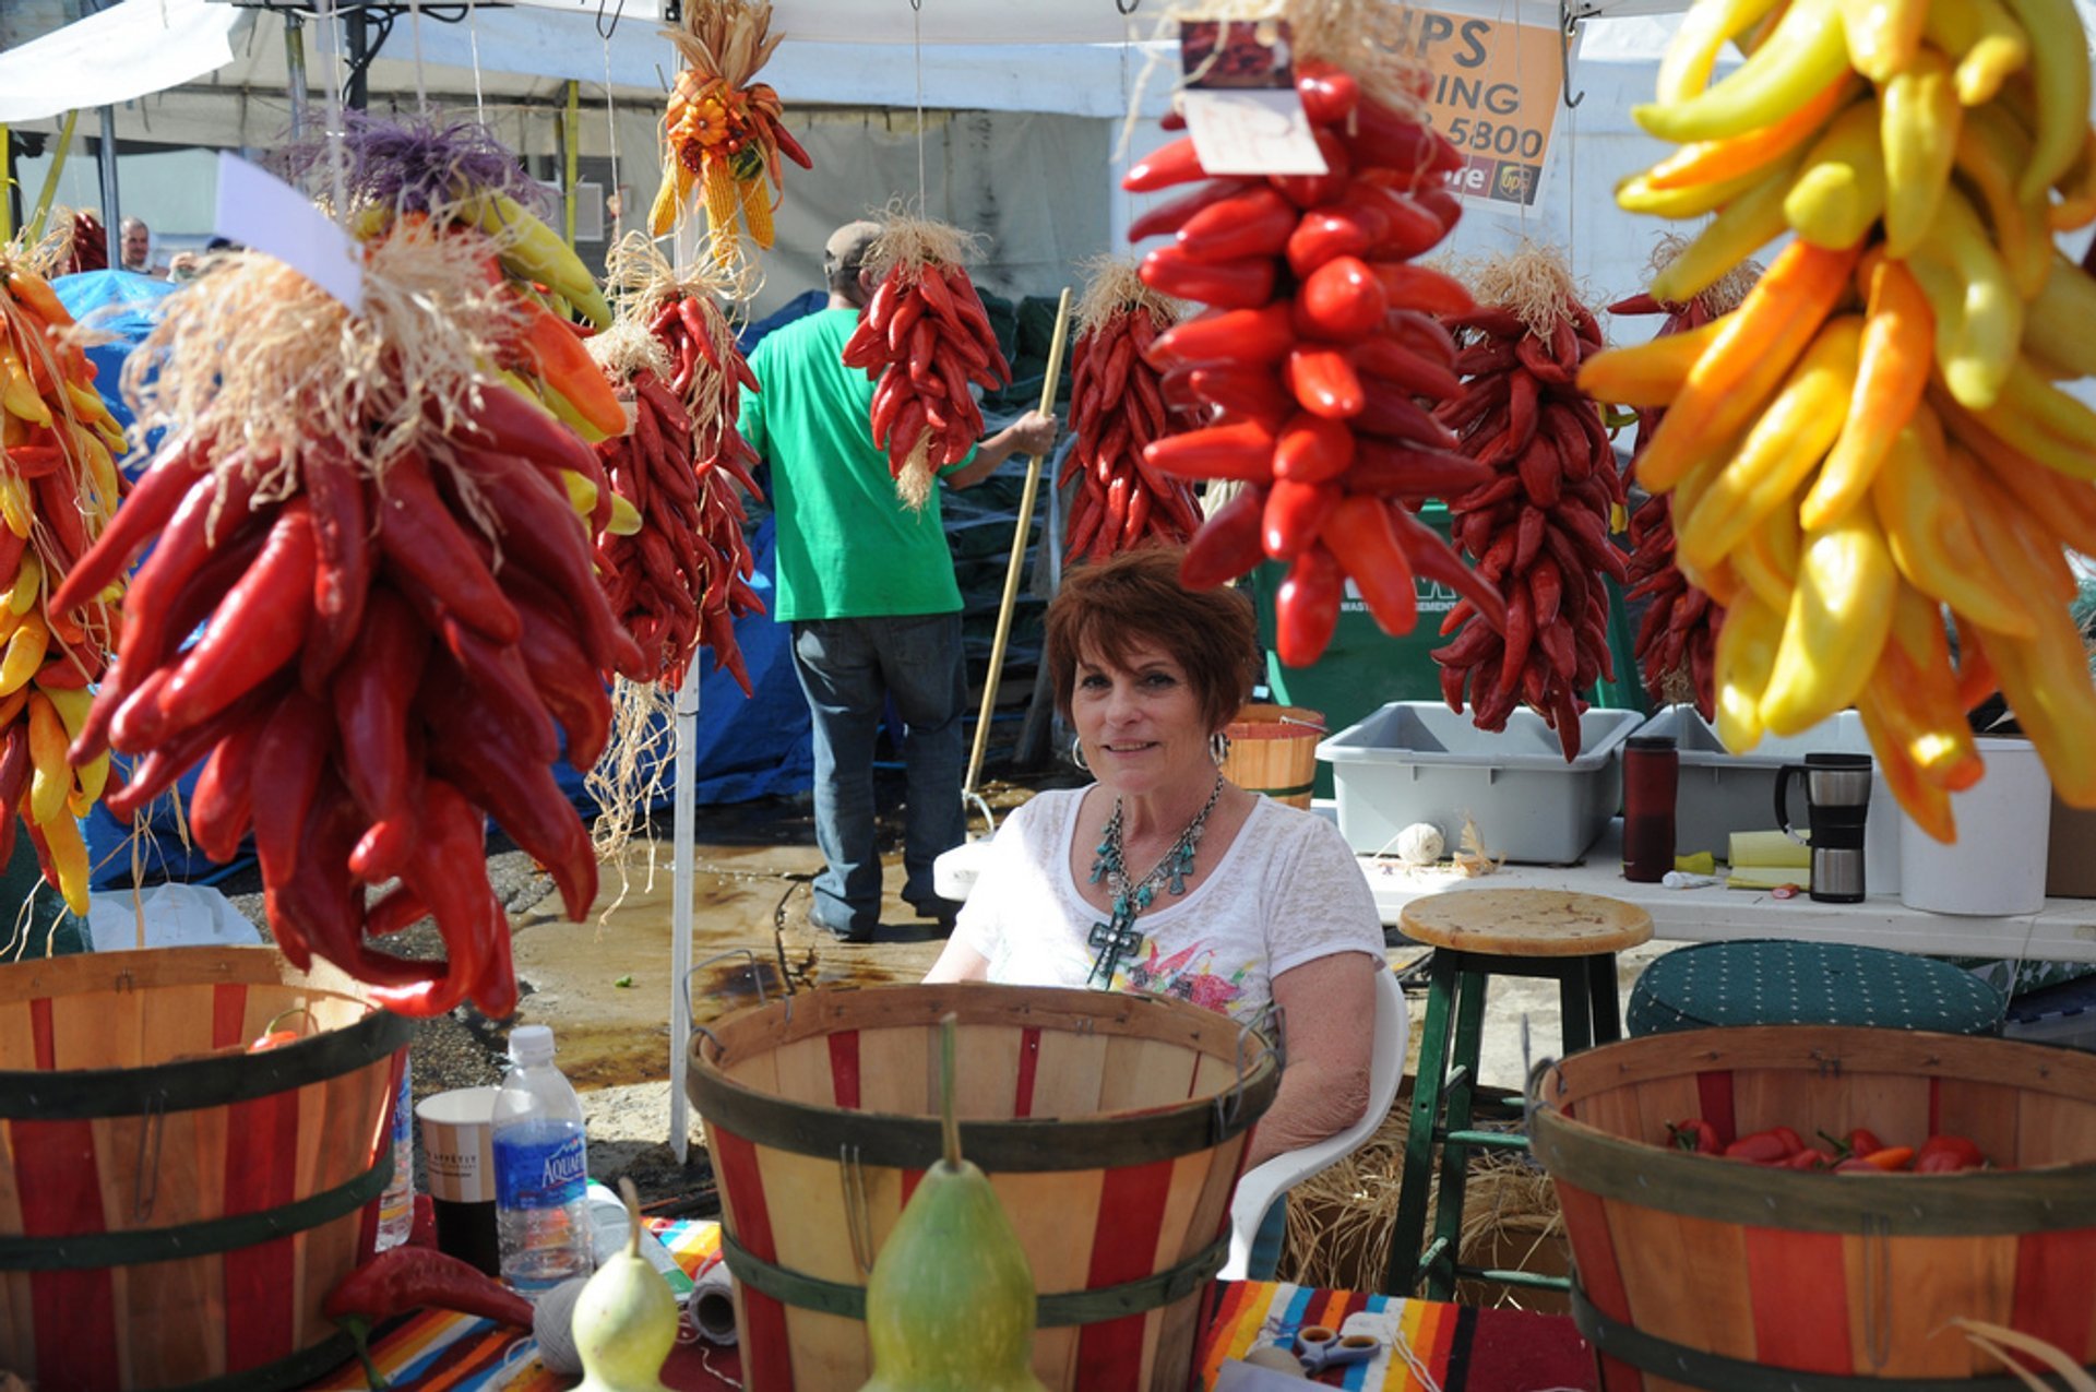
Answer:
<path fill-rule="evenodd" d="M 1438 700 L 1396 700 L 1318 744 L 1316 757 L 1331 763 L 1339 834 L 1358 853 L 1388 851 L 1413 822 L 1438 826 L 1453 851 L 1467 815 L 1492 855 L 1566 864 L 1616 815 L 1618 751 L 1639 721 L 1637 711 L 1587 711 L 1580 755 L 1566 763 L 1534 711 L 1515 711 L 1492 734 Z"/>

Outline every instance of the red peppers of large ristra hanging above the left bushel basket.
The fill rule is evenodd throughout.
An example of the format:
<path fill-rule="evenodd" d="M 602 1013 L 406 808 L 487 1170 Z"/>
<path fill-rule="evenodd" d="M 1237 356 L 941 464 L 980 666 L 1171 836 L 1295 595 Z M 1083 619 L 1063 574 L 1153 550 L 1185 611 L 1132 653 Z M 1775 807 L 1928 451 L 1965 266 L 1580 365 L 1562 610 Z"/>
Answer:
<path fill-rule="evenodd" d="M 597 864 L 553 782 L 553 725 L 593 763 L 610 727 L 602 671 L 637 675 L 641 654 L 591 572 L 566 474 L 599 491 L 604 474 L 566 428 L 484 386 L 459 432 L 425 449 L 379 484 L 310 444 L 300 491 L 256 501 L 252 478 L 277 457 L 249 472 L 203 440 L 163 447 L 52 595 L 99 593 L 157 537 L 69 757 L 143 755 L 107 797 L 117 818 L 205 759 L 197 843 L 231 860 L 254 830 L 285 956 L 329 958 L 407 1015 L 472 998 L 503 1017 L 516 977 L 484 815 L 553 872 L 570 918 L 589 912 Z M 467 488 L 499 522 L 499 564 Z M 367 912 L 365 887 L 394 876 L 400 889 Z M 369 941 L 425 912 L 449 960 Z"/>

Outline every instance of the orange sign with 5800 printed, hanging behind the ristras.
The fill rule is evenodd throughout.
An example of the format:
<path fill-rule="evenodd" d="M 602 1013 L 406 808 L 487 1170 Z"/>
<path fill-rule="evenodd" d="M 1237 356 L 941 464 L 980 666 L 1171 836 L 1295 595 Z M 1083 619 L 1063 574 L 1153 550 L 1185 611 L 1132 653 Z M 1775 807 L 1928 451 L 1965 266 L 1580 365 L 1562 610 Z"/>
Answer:
<path fill-rule="evenodd" d="M 1576 40 L 1555 23 L 1425 8 L 1411 13 L 1411 25 L 1434 73 L 1427 117 L 1465 159 L 1448 187 L 1478 210 L 1518 214 L 1534 205 L 1564 109 L 1564 46 Z"/>

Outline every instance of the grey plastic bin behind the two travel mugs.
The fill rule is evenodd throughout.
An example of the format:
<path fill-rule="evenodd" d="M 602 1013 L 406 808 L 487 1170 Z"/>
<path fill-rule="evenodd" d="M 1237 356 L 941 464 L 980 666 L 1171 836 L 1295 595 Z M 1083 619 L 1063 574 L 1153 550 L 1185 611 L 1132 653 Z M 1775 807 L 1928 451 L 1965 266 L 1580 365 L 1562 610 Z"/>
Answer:
<path fill-rule="evenodd" d="M 1767 734 L 1744 755 L 1727 753 L 1696 706 L 1664 706 L 1635 736 L 1664 736 L 1681 753 L 1675 795 L 1675 855 L 1710 851 L 1731 855 L 1733 832 L 1775 830 L 1775 771 L 1805 763 L 1805 755 L 1868 755 L 1870 736 L 1855 711 L 1794 736 Z M 1805 830 L 1805 790 L 1792 780 L 1790 824 Z M 1865 883 L 1870 893 L 1899 891 L 1899 803 L 1880 774 L 1872 782 L 1865 828 Z"/>

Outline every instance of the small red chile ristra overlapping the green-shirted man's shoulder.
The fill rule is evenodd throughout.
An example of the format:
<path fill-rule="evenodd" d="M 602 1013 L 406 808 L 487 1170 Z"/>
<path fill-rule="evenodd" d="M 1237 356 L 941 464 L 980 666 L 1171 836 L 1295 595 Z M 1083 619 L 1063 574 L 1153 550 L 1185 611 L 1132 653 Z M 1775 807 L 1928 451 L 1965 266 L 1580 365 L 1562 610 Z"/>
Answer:
<path fill-rule="evenodd" d="M 1010 386 L 1012 369 L 962 264 L 968 237 L 943 222 L 889 212 L 866 266 L 880 277 L 845 340 L 845 367 L 874 379 L 874 444 L 889 455 L 895 493 L 912 507 L 939 470 L 983 434 L 970 384 Z"/>

